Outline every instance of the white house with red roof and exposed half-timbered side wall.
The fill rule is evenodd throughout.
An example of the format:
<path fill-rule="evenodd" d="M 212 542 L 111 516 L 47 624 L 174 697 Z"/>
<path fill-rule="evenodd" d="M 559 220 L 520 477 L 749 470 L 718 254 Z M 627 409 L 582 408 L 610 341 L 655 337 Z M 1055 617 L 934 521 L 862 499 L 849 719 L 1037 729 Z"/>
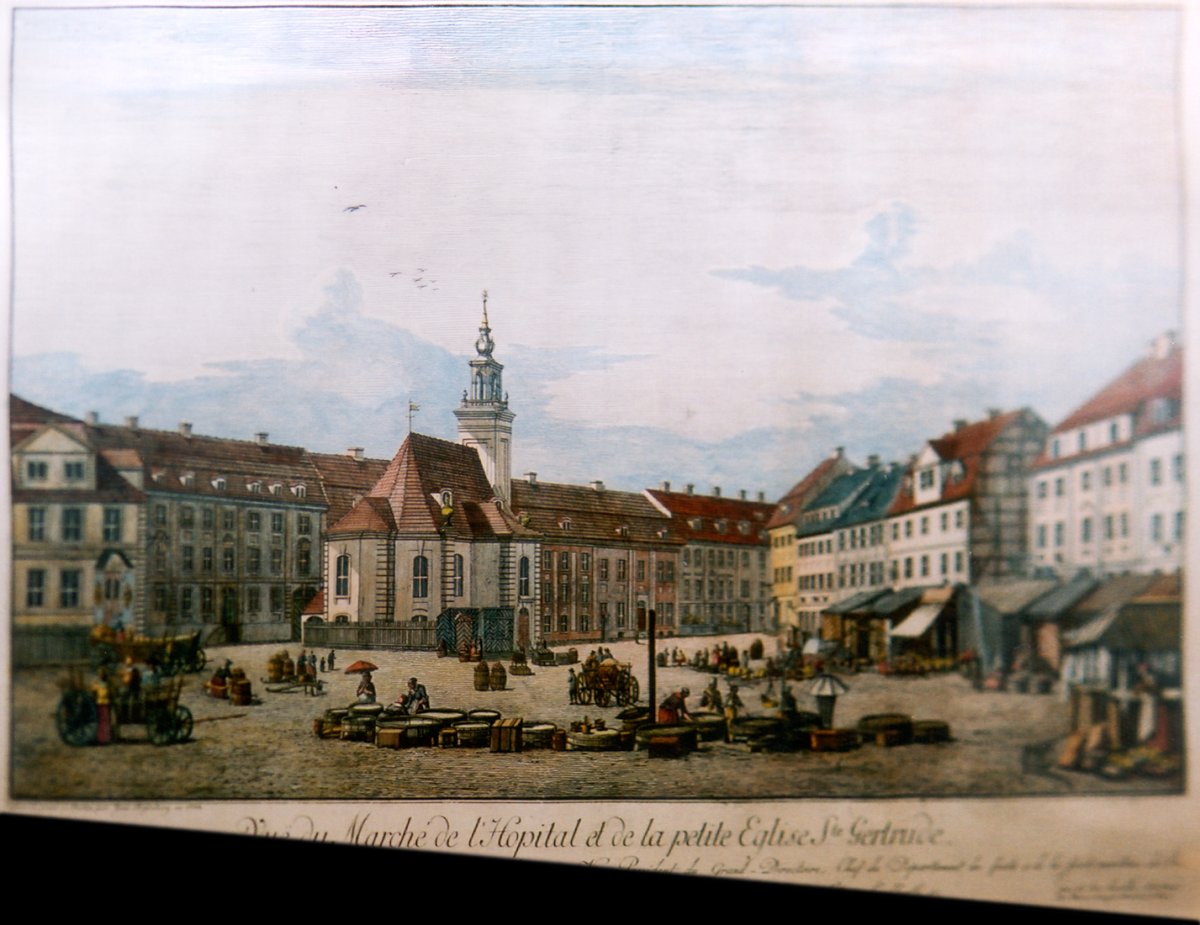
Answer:
<path fill-rule="evenodd" d="M 908 467 L 888 511 L 888 582 L 898 588 L 1022 575 L 1028 565 L 1025 479 L 1045 440 L 1032 410 L 955 421 Z"/>

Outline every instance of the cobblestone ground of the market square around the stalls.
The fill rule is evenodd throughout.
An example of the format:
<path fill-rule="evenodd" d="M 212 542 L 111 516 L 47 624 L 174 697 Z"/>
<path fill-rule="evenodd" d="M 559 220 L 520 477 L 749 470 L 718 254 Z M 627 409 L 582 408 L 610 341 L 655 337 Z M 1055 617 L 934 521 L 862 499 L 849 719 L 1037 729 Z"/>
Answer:
<path fill-rule="evenodd" d="M 728 637 L 739 650 L 754 637 Z M 713 639 L 671 639 L 691 654 Z M 772 644 L 768 641 L 768 644 Z M 950 723 L 953 741 L 850 752 L 751 753 L 745 745 L 706 744 L 677 761 L 635 752 L 492 753 L 486 749 L 378 749 L 366 743 L 318 739 L 312 720 L 347 705 L 355 675 L 326 673 L 319 697 L 271 693 L 262 678 L 280 644 L 211 649 L 210 666 L 224 657 L 254 681 L 256 703 L 234 707 L 204 695 L 206 674 L 188 677 L 181 702 L 196 716 L 187 743 L 155 746 L 140 728 L 122 741 L 71 747 L 54 727 L 62 669 L 23 669 L 13 675 L 11 794 L 20 799 L 772 799 L 842 797 L 962 797 L 1064 793 L 1168 793 L 1180 781 L 1108 781 L 1048 767 L 1054 743 L 1067 733 L 1066 705 L 1057 696 L 974 691 L 956 674 L 888 678 L 845 675 L 850 691 L 838 701 L 836 725 L 853 726 L 874 713 L 904 713 Z M 293 654 L 299 647 L 289 647 Z M 635 665 L 646 698 L 644 645 L 611 645 L 619 661 Z M 619 708 L 572 707 L 566 668 L 534 668 L 509 677 L 508 690 L 474 690 L 473 665 L 432 653 L 338 650 L 344 666 L 355 659 L 379 666 L 379 701 L 390 702 L 416 675 L 434 709 L 490 708 L 506 717 L 566 727 L 584 715 L 611 726 Z M 690 668 L 658 672 L 659 698 L 690 687 L 692 709 L 713 675 Z M 721 684 L 722 691 L 726 684 Z M 793 683 L 800 709 L 815 709 L 802 683 Z M 748 713 L 767 713 L 766 681 L 742 683 Z"/>

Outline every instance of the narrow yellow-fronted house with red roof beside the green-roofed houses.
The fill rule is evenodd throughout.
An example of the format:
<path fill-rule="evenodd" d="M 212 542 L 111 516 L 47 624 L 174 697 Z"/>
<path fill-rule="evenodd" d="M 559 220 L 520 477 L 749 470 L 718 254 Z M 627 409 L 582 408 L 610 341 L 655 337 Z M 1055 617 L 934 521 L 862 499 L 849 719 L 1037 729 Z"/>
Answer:
<path fill-rule="evenodd" d="M 790 644 L 799 644 L 802 624 L 810 614 L 814 603 L 814 595 L 824 597 L 826 581 L 814 578 L 811 588 L 805 588 L 805 600 L 800 601 L 800 583 L 797 579 L 798 558 L 802 547 L 797 543 L 797 530 L 804 522 L 804 512 L 810 501 L 823 492 L 829 483 L 853 469 L 852 463 L 845 457 L 842 448 L 822 460 L 816 468 L 792 486 L 775 505 L 775 511 L 767 522 L 767 542 L 769 545 L 768 567 L 770 569 L 770 596 L 774 609 L 774 621 L 778 631 L 786 637 Z M 803 553 L 812 558 L 817 555 L 832 555 L 832 545 L 827 548 L 824 540 L 810 537 L 805 540 Z M 833 573 L 832 559 L 821 567 L 818 563 L 810 561 L 810 566 L 816 571 Z M 830 579 L 832 581 L 832 579 Z M 832 584 L 829 585 L 832 588 Z"/>

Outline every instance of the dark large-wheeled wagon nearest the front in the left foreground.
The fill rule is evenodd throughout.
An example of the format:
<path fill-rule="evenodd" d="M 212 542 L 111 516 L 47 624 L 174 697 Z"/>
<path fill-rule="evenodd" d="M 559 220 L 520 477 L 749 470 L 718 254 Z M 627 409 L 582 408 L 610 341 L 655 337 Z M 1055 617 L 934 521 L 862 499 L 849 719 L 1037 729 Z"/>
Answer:
<path fill-rule="evenodd" d="M 59 737 L 67 745 L 116 741 L 121 731 L 144 726 L 155 745 L 186 741 L 192 735 L 192 711 L 179 702 L 182 678 L 168 678 L 137 690 L 109 686 L 103 680 L 89 689 L 79 672 L 62 684 L 54 711 Z"/>

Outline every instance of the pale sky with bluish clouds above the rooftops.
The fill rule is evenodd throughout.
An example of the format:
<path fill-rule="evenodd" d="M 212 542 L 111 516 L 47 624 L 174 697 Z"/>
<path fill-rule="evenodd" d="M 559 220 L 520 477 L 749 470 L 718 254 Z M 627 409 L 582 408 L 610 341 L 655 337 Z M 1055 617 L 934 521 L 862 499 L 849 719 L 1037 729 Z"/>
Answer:
<path fill-rule="evenodd" d="M 12 390 L 778 498 L 1181 325 L 1180 14 L 20 10 Z M 350 206 L 360 206 L 350 209 Z"/>

